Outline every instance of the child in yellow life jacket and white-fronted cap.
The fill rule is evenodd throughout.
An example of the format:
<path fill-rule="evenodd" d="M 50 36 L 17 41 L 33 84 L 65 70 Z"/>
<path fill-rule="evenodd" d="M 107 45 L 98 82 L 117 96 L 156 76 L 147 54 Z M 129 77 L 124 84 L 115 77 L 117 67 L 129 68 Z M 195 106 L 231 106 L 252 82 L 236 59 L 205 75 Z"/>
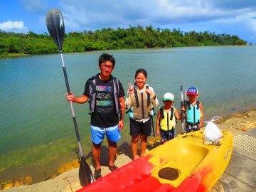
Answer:
<path fill-rule="evenodd" d="M 161 136 L 160 144 L 164 144 L 176 137 L 176 119 L 181 119 L 181 114 L 173 105 L 174 95 L 170 92 L 164 94 L 164 107 L 160 107 L 156 118 L 156 134 Z M 159 129 L 160 128 L 160 129 Z"/>

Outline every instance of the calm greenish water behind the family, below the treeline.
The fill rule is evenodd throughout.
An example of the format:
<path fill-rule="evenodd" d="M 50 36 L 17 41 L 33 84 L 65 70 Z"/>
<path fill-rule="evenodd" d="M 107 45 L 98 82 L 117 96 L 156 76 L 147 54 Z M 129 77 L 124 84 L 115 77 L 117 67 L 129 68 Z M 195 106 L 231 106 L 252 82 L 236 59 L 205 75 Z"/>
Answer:
<path fill-rule="evenodd" d="M 64 54 L 70 89 L 82 95 L 85 81 L 99 73 L 97 59 L 102 51 Z M 163 48 L 107 51 L 116 58 L 113 75 L 134 82 L 138 68 L 148 72 L 148 83 L 161 103 L 165 92 L 173 92 L 180 105 L 180 85 L 196 86 L 205 119 L 226 117 L 256 106 L 256 46 Z M 60 55 L 36 55 L 0 59 L 0 181 L 14 176 L 52 175 L 60 164 L 77 159 L 70 105 L 65 101 L 65 81 Z M 91 159 L 88 105 L 74 104 L 75 116 L 87 158 Z M 180 123 L 178 124 L 180 126 Z M 130 142 L 128 117 L 122 130 Z M 43 174 L 42 174 L 43 173 Z"/>

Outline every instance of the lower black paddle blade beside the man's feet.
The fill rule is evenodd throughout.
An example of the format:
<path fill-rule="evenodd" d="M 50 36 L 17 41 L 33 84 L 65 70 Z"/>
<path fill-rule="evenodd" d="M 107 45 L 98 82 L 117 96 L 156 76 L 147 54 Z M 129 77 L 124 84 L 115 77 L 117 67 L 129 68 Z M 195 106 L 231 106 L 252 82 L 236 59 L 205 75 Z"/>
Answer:
<path fill-rule="evenodd" d="M 79 168 L 79 181 L 81 186 L 87 186 L 93 182 L 92 170 L 85 161 L 85 157 L 81 156 Z"/>

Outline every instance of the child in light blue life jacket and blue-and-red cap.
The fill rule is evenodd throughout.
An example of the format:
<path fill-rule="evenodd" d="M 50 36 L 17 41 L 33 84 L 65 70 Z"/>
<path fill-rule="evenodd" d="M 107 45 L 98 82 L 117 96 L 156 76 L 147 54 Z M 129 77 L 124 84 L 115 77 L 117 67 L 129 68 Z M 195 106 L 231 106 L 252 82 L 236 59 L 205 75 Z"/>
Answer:
<path fill-rule="evenodd" d="M 189 87 L 186 101 L 186 132 L 195 132 L 201 129 L 203 123 L 203 105 L 197 99 L 198 89 Z"/>

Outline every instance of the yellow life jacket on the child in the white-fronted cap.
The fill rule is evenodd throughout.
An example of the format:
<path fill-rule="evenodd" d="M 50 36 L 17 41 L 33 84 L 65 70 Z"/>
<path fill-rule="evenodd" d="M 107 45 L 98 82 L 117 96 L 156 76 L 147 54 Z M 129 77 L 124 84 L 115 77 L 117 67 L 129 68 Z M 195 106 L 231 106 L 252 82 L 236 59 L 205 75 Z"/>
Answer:
<path fill-rule="evenodd" d="M 174 117 L 175 107 L 171 106 L 171 113 L 165 112 L 163 107 L 160 107 L 159 110 L 160 110 L 159 127 L 164 131 L 169 131 L 170 128 L 173 131 L 173 129 L 176 127 L 176 118 Z"/>

